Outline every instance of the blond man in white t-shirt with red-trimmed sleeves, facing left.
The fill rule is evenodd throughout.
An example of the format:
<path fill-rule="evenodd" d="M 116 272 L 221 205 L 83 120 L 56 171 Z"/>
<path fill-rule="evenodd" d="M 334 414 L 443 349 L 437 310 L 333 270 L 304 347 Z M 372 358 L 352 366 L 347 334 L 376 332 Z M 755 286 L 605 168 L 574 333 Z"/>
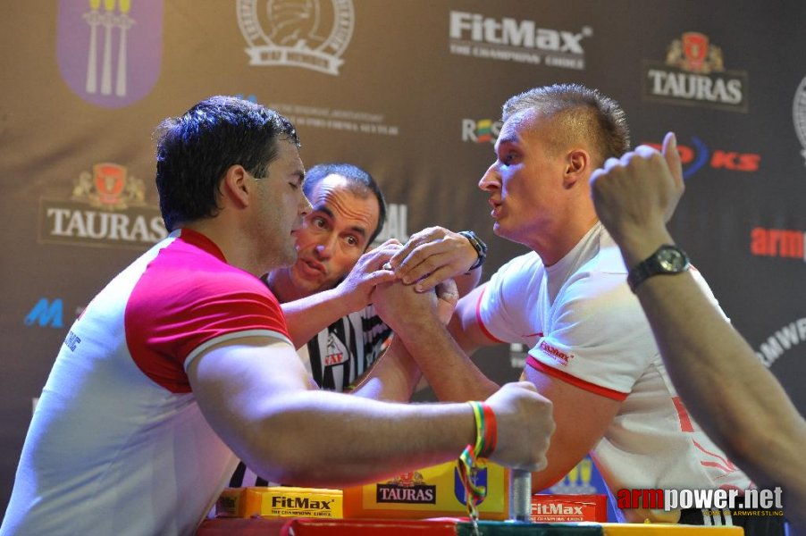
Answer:
<path fill-rule="evenodd" d="M 531 348 L 524 377 L 552 400 L 557 422 L 534 490 L 557 482 L 589 451 L 613 494 L 750 486 L 678 398 L 619 250 L 593 208 L 592 172 L 629 147 L 624 112 L 597 90 L 554 85 L 513 96 L 502 119 L 495 161 L 479 188 L 489 195 L 495 233 L 532 251 L 459 300 L 450 322 L 456 342 L 439 330 L 408 334 L 431 344 L 431 353 L 412 355 L 437 396 L 492 392 L 496 385 L 466 353 L 522 343 Z M 405 255 L 404 248 L 391 264 Z M 699 272 L 692 274 L 718 307 Z M 680 520 L 679 512 L 648 508 L 621 515 Z M 728 515 L 693 515 L 690 523 L 730 523 Z"/>

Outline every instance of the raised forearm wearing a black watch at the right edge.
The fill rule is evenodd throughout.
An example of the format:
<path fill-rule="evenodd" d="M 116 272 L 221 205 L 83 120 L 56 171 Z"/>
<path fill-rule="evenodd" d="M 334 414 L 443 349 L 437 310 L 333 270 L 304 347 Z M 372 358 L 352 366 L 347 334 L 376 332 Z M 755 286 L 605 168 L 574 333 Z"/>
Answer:
<path fill-rule="evenodd" d="M 672 242 L 656 233 L 654 239 L 623 247 L 627 264 L 650 255 L 659 240 Z M 793 471 L 794 466 L 806 469 L 793 446 L 806 444 L 806 424 L 692 275 L 659 275 L 636 290 L 669 376 L 718 446 L 756 482 L 783 484 L 792 474 L 802 474 Z"/>

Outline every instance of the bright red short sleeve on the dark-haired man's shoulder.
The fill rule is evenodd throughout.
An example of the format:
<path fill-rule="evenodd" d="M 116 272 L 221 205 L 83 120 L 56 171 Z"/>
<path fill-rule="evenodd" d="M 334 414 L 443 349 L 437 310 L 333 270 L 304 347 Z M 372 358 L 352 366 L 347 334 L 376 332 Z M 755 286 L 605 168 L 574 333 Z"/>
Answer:
<path fill-rule="evenodd" d="M 132 359 L 152 381 L 175 393 L 190 391 L 185 361 L 202 345 L 248 336 L 290 342 L 280 304 L 262 281 L 220 262 L 188 264 L 192 267 L 177 269 L 157 259 L 126 307 Z"/>

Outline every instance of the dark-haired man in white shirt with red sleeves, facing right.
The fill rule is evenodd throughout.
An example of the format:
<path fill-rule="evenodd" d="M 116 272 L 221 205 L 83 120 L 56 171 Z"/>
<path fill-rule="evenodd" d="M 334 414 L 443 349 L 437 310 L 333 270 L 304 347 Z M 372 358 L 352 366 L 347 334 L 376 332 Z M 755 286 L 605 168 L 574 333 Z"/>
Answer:
<path fill-rule="evenodd" d="M 212 97 L 164 121 L 156 185 L 170 235 L 72 325 L 0 534 L 192 534 L 238 458 L 267 479 L 331 487 L 446 462 L 474 442 L 468 404 L 315 388 L 258 279 L 295 260 L 303 178 L 296 131 L 261 105 Z M 447 321 L 438 299 L 415 298 L 419 322 Z M 375 397 L 406 398 L 419 379 L 399 350 L 374 367 Z M 487 403 L 491 458 L 545 465 L 550 403 L 528 384 Z"/>

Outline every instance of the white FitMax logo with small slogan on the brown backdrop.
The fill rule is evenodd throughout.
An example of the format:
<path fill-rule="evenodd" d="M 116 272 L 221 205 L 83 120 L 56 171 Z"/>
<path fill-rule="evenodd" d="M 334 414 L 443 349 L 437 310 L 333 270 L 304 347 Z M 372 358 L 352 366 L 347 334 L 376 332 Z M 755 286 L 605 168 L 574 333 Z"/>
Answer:
<path fill-rule="evenodd" d="M 572 32 L 540 28 L 529 20 L 450 12 L 451 54 L 582 70 L 585 52 L 582 41 L 592 34 L 588 26 Z"/>

